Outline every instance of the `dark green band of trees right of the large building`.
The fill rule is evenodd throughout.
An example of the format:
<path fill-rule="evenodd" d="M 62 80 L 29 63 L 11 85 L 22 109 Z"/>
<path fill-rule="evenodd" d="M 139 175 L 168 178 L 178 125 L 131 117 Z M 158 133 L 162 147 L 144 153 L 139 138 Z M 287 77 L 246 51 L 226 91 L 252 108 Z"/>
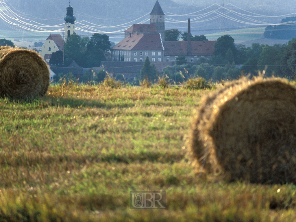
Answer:
<path fill-rule="evenodd" d="M 296 38 L 287 44 L 274 46 L 253 43 L 251 47 L 235 45 L 229 35 L 221 36 L 215 44 L 215 51 L 210 60 L 199 60 L 200 65 L 187 63 L 185 56 L 176 62 L 176 82 L 202 76 L 206 79 L 236 79 L 240 75 L 258 75 L 266 70 L 266 76 L 287 77 L 296 75 Z M 175 67 L 168 66 L 164 74 L 174 79 Z"/>

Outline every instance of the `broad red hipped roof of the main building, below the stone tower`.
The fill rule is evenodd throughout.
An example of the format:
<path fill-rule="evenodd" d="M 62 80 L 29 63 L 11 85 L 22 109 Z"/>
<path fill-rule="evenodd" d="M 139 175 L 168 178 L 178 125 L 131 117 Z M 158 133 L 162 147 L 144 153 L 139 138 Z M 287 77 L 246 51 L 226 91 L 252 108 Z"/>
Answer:
<path fill-rule="evenodd" d="M 131 34 L 112 49 L 117 50 L 163 50 L 159 34 Z"/>

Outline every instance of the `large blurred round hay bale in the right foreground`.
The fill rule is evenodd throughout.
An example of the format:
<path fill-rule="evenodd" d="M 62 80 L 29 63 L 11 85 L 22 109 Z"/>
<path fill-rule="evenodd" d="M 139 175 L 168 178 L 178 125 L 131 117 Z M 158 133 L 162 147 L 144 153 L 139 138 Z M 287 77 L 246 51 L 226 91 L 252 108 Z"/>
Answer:
<path fill-rule="evenodd" d="M 296 88 L 242 79 L 202 99 L 189 146 L 199 173 L 227 181 L 296 182 Z"/>

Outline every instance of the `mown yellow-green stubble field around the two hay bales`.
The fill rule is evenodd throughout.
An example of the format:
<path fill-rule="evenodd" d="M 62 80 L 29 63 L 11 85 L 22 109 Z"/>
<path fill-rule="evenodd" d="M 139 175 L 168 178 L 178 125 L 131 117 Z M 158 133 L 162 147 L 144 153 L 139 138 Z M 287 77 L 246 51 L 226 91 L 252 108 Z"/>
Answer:
<path fill-rule="evenodd" d="M 50 86 L 0 99 L 0 221 L 295 221 L 296 186 L 206 182 L 185 141 L 209 90 Z M 166 191 L 131 210 L 130 191 Z"/>

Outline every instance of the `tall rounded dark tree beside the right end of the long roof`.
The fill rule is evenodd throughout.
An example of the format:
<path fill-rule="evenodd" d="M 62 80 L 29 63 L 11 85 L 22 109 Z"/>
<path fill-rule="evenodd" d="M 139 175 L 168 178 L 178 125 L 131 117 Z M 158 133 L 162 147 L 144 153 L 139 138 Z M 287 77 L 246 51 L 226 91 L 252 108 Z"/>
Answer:
<path fill-rule="evenodd" d="M 230 49 L 234 59 L 237 59 L 237 55 L 238 55 L 237 48 L 234 46 L 234 38 L 232 38 L 231 36 L 224 35 L 219 37 L 214 46 L 215 46 L 215 50 L 214 50 L 215 56 L 221 55 L 223 58 L 225 58 L 226 52 L 228 51 L 228 49 Z"/>

